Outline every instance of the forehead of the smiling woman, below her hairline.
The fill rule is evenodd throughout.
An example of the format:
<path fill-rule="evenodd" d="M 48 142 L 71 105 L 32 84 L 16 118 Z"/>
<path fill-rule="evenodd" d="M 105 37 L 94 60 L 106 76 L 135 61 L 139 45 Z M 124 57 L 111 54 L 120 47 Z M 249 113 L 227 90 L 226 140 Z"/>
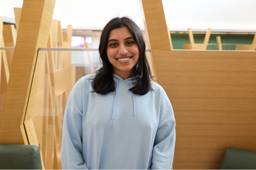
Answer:
<path fill-rule="evenodd" d="M 122 27 L 111 30 L 108 39 L 124 40 L 127 37 L 133 37 L 133 35 L 127 27 Z"/>

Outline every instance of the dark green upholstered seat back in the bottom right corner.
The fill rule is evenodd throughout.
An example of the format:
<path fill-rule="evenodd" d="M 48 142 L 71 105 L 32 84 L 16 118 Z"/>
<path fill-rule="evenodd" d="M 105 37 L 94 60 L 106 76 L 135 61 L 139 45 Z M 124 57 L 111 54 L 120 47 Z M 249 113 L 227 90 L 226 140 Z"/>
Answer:
<path fill-rule="evenodd" d="M 219 169 L 256 169 L 256 152 L 239 148 L 228 148 Z"/>

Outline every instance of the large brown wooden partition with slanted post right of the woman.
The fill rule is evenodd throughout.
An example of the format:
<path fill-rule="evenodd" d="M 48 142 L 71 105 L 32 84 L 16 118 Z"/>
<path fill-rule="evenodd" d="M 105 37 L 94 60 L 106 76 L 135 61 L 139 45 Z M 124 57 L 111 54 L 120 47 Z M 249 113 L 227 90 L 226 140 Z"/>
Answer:
<path fill-rule="evenodd" d="M 256 151 L 256 52 L 171 50 L 161 0 L 141 0 L 158 83 L 176 117 L 177 169 L 218 169 L 225 150 Z"/>

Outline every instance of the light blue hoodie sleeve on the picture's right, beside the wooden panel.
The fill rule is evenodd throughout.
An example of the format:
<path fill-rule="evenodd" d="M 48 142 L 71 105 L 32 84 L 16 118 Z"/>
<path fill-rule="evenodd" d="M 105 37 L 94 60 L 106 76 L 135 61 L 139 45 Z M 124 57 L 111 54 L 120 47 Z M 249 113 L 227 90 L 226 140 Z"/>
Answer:
<path fill-rule="evenodd" d="M 151 169 L 171 169 L 176 140 L 176 122 L 171 102 L 161 88 L 159 125 L 153 147 Z"/>

